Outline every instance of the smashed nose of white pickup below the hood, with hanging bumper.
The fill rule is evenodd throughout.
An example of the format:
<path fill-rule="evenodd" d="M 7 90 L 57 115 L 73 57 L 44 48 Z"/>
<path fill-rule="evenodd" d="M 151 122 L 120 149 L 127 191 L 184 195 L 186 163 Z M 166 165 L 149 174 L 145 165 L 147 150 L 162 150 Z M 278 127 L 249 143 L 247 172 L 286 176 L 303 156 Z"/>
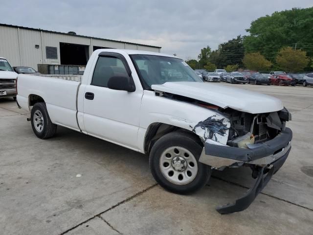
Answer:
<path fill-rule="evenodd" d="M 291 120 L 291 114 L 286 108 L 263 114 L 227 108 L 223 114 L 229 119 L 229 127 L 223 124 L 223 119 L 216 122 L 212 121 L 214 117 L 209 117 L 199 122 L 193 131 L 196 133 L 197 127 L 206 128 L 208 137 L 205 138 L 199 162 L 216 170 L 250 167 L 252 177 L 256 179 L 243 197 L 217 208 L 221 214 L 227 214 L 248 208 L 272 175 L 284 164 L 291 150 L 292 132 L 286 127 L 286 122 Z M 224 135 L 226 131 L 226 144 L 215 139 L 217 134 Z"/>

